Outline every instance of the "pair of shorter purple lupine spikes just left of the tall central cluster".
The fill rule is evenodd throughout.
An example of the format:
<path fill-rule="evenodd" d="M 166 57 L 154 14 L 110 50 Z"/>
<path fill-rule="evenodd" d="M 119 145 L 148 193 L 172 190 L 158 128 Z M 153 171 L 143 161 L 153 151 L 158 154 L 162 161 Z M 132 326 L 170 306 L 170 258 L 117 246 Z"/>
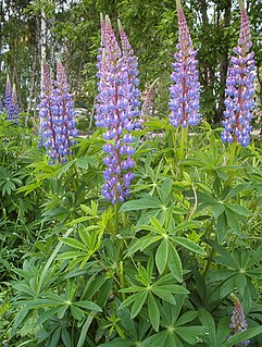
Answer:
<path fill-rule="evenodd" d="M 77 129 L 73 95 L 70 94 L 66 72 L 60 60 L 54 86 L 48 65 L 43 64 L 40 99 L 40 142 L 47 149 L 50 163 L 64 163 L 66 157 L 72 154 L 71 146 Z"/>

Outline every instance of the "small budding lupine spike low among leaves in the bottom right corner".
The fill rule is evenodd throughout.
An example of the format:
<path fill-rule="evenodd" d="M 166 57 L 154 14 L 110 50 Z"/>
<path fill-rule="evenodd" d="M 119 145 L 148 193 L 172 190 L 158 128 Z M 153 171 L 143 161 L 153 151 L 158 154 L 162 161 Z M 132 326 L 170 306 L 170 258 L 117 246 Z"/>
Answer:
<path fill-rule="evenodd" d="M 246 318 L 245 318 L 241 302 L 234 294 L 232 294 L 230 297 L 233 299 L 235 308 L 234 308 L 233 313 L 232 313 L 229 327 L 233 331 L 233 335 L 235 335 L 237 333 L 240 333 L 240 332 L 247 330 L 248 323 L 247 323 Z M 244 347 L 244 346 L 249 346 L 249 345 L 250 345 L 250 340 L 244 340 L 237 345 L 234 345 L 234 347 Z"/>

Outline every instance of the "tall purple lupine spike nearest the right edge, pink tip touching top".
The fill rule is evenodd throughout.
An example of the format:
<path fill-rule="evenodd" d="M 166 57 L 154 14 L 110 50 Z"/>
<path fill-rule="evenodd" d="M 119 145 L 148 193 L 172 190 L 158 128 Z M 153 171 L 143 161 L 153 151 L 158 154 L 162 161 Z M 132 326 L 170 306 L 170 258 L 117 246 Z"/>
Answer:
<path fill-rule="evenodd" d="M 254 52 L 252 47 L 248 13 L 244 3 L 239 1 L 241 13 L 241 28 L 238 46 L 234 48 L 226 79 L 226 99 L 224 112 L 225 120 L 222 122 L 224 142 L 237 141 L 247 147 L 250 141 L 250 121 L 254 104 Z"/>

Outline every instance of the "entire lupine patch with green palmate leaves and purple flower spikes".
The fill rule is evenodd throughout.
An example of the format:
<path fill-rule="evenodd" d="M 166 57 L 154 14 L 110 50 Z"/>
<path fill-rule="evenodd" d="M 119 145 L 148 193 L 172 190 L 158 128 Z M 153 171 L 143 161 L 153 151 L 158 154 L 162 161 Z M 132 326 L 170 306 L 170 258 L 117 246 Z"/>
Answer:
<path fill-rule="evenodd" d="M 255 57 L 239 3 L 224 129 L 201 114 L 178 0 L 166 120 L 150 112 L 158 79 L 142 104 L 138 58 L 108 15 L 91 134 L 77 134 L 60 60 L 54 80 L 43 64 L 39 136 L 0 115 L 3 346 L 262 346 Z"/>

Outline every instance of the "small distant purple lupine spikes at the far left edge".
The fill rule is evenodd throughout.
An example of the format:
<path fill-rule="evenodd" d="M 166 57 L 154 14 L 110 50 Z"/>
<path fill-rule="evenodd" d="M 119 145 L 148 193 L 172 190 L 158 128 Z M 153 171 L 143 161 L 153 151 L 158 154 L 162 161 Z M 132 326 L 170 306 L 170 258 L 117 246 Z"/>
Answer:
<path fill-rule="evenodd" d="M 12 87 L 10 77 L 7 77 L 7 86 L 4 94 L 4 107 L 10 122 L 18 123 L 20 107 L 17 102 L 15 85 Z"/>

